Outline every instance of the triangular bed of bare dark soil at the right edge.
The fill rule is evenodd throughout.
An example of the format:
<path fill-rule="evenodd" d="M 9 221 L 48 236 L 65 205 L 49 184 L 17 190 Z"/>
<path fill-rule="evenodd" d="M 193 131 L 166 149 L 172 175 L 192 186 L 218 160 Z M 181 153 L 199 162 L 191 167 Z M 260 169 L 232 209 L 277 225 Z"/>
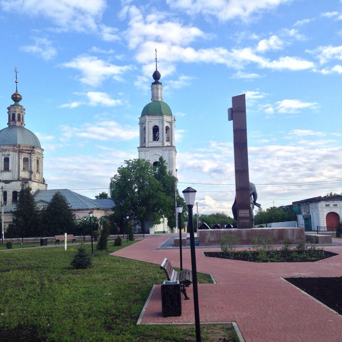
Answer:
<path fill-rule="evenodd" d="M 342 277 L 296 277 L 285 280 L 342 315 Z"/>

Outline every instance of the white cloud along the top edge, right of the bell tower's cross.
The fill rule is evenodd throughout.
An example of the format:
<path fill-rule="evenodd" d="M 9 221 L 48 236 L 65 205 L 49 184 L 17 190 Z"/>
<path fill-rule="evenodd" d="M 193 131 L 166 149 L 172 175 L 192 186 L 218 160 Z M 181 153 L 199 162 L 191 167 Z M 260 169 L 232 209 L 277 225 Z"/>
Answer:
<path fill-rule="evenodd" d="M 253 14 L 274 9 L 285 2 L 288 2 L 288 0 L 167 0 L 171 8 L 184 10 L 189 15 L 194 13 L 212 15 L 221 21 L 227 21 L 236 17 L 247 21 Z"/>

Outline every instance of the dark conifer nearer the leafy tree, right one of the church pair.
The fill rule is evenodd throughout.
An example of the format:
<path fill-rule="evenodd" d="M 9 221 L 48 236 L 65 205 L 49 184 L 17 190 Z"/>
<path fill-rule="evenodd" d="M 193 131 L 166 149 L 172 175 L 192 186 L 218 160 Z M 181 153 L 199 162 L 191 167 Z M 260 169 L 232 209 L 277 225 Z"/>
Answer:
<path fill-rule="evenodd" d="M 47 231 L 50 236 L 71 233 L 74 227 L 74 214 L 65 196 L 57 191 L 47 208 Z"/>

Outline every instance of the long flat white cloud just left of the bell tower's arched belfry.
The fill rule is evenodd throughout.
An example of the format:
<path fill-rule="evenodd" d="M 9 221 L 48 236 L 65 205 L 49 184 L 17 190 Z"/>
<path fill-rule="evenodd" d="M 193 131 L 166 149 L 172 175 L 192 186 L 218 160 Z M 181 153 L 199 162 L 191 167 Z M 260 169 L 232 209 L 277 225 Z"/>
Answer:
<path fill-rule="evenodd" d="M 121 126 L 116 121 L 85 123 L 81 127 L 59 126 L 62 130 L 62 141 L 82 138 L 99 141 L 129 141 L 139 137 L 139 129 L 128 125 Z"/>

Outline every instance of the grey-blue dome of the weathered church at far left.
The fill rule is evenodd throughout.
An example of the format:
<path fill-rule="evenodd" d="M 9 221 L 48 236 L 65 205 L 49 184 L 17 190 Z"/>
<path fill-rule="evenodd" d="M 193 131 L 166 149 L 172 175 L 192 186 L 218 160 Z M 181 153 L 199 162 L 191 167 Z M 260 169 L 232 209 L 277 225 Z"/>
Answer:
<path fill-rule="evenodd" d="M 2 129 L 0 145 L 29 145 L 41 148 L 37 136 L 22 126 L 9 126 Z"/>

